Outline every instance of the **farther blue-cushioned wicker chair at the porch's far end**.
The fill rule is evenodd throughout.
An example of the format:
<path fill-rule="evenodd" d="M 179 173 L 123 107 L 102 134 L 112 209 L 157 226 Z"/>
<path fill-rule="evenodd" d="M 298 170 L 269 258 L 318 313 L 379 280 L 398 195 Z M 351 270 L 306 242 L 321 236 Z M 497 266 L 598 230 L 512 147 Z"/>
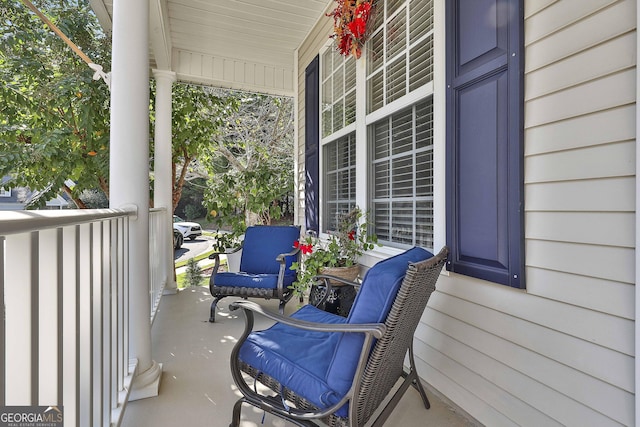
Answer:
<path fill-rule="evenodd" d="M 299 250 L 293 243 L 300 237 L 300 227 L 258 225 L 248 227 L 242 246 L 225 252 L 227 254 L 242 249 L 240 271 L 218 272 L 221 253 L 213 253 L 215 260 L 209 279 L 209 290 L 213 296 L 209 322 L 216 320 L 218 301 L 224 297 L 277 298 L 280 313 L 291 299 L 293 291 L 289 286 L 296 280 L 291 263 L 299 260 Z"/>

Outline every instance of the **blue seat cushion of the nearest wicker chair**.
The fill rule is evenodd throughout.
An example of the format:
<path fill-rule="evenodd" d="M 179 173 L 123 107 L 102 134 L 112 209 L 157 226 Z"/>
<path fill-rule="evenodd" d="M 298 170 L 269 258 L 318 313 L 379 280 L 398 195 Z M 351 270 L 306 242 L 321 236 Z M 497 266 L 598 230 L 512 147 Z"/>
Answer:
<path fill-rule="evenodd" d="M 291 315 L 294 319 L 328 324 L 345 323 L 342 316 L 306 305 Z M 283 387 L 319 408 L 338 402 L 344 392 L 326 381 L 341 333 L 305 331 L 280 323 L 253 332 L 240 349 L 240 360 L 276 379 Z M 339 416 L 347 415 L 347 406 Z"/>

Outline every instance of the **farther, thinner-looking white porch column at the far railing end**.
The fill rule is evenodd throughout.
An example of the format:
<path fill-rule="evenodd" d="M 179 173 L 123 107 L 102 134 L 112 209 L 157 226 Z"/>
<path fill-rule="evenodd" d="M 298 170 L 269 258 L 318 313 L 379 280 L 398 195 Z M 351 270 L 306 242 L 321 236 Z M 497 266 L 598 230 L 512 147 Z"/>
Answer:
<path fill-rule="evenodd" d="M 153 153 L 153 206 L 165 208 L 165 226 L 160 231 L 162 259 L 165 261 L 164 293 L 175 294 L 173 261 L 173 185 L 171 182 L 171 85 L 176 81 L 176 73 L 153 70 L 156 79 L 156 127 L 155 149 Z"/>

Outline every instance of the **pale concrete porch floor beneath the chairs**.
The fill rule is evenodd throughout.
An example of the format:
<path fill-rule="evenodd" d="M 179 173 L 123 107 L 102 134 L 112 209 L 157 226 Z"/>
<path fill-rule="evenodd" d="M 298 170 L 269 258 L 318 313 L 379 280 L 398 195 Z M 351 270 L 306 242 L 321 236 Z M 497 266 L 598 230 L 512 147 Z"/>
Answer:
<path fill-rule="evenodd" d="M 212 298 L 206 287 L 187 288 L 162 298 L 152 328 L 153 359 L 163 365 L 160 394 L 129 402 L 123 427 L 226 427 L 239 397 L 229 371 L 229 355 L 244 329 L 240 312 L 229 312 L 233 298 L 219 303 L 216 323 L 209 323 Z M 277 301 L 255 300 L 277 311 Z M 297 304 L 291 301 L 287 313 Z M 256 318 L 259 328 L 268 322 Z M 417 391 L 409 389 L 387 421 L 389 426 L 473 426 L 463 415 L 427 390 L 431 409 L 425 410 Z M 242 427 L 289 427 L 249 405 L 242 409 Z"/>

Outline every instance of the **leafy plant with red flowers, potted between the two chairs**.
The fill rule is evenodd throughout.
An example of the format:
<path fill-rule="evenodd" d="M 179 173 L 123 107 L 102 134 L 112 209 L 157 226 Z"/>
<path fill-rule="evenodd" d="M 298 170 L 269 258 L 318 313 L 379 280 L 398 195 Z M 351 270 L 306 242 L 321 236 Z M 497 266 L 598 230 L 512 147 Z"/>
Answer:
<path fill-rule="evenodd" d="M 329 233 L 328 240 L 308 235 L 296 241 L 294 247 L 300 249 L 302 257 L 291 266 L 298 274 L 292 285 L 294 294 L 304 295 L 316 285 L 315 277 L 320 274 L 354 281 L 359 273 L 358 258 L 378 242 L 377 236 L 369 233 L 371 225 L 368 215 L 356 206 L 340 215 L 338 229 Z"/>

